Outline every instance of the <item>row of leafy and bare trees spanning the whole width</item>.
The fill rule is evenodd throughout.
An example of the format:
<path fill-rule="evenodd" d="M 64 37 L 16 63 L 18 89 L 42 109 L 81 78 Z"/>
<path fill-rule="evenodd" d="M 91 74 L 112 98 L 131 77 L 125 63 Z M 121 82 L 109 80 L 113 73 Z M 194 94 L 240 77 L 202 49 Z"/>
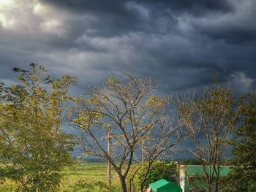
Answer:
<path fill-rule="evenodd" d="M 156 174 L 176 180 L 175 164 L 157 160 L 185 139 L 194 145 L 192 163 L 203 166 L 206 191 L 217 192 L 220 184 L 224 191 L 256 191 L 255 93 L 236 99 L 232 88 L 215 82 L 170 96 L 157 80 L 121 73 L 71 96 L 75 77 L 50 77 L 37 64 L 13 71 L 20 83 L 0 85 L 0 181 L 15 181 L 17 191 L 59 191 L 61 171 L 74 164 L 75 145 L 108 161 L 123 192 L 144 191 Z M 83 138 L 64 131 L 71 126 Z M 230 161 L 235 168 L 223 179 L 220 167 Z"/>

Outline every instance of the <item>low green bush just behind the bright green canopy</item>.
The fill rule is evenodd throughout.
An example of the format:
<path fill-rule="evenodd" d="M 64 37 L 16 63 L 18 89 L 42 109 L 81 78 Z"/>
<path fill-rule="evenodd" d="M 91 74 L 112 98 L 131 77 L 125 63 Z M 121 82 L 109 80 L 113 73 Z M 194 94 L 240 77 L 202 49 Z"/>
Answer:
<path fill-rule="evenodd" d="M 138 171 L 135 177 L 135 185 L 140 187 L 140 183 L 144 178 L 144 174 L 146 174 L 146 169 L 148 169 L 147 164 L 143 164 L 143 166 Z M 150 183 L 153 183 L 157 180 L 165 179 L 173 182 L 177 182 L 178 168 L 177 165 L 171 161 L 167 163 L 165 161 L 154 161 L 151 166 L 151 169 L 148 172 L 148 177 L 146 178 L 145 186 L 148 187 Z"/>

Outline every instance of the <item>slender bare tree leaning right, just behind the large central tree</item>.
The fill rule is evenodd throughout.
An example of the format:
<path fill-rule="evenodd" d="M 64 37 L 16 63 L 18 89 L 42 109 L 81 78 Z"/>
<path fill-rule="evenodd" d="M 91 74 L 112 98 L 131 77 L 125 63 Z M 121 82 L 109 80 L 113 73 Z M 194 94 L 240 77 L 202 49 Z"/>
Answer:
<path fill-rule="evenodd" d="M 167 110 L 167 109 L 166 109 Z M 170 115 L 171 114 L 171 118 Z M 148 172 L 157 158 L 170 157 L 173 153 L 173 147 L 185 139 L 184 127 L 181 125 L 180 118 L 175 111 L 167 112 L 162 109 L 159 114 L 159 123 L 157 123 L 154 133 L 151 132 L 149 138 L 143 141 L 143 148 L 146 151 L 143 165 L 146 166 L 146 172 L 140 181 L 140 191 L 144 191 Z"/>

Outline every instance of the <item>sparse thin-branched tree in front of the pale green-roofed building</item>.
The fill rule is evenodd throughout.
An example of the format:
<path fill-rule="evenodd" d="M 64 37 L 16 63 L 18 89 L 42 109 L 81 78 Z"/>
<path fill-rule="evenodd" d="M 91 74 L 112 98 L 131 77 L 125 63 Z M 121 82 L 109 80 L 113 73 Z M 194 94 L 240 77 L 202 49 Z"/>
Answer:
<path fill-rule="evenodd" d="M 200 159 L 207 190 L 219 191 L 221 165 L 227 158 L 227 139 L 236 121 L 234 94 L 216 83 L 200 94 L 178 99 L 178 112 L 195 145 L 192 153 Z"/>

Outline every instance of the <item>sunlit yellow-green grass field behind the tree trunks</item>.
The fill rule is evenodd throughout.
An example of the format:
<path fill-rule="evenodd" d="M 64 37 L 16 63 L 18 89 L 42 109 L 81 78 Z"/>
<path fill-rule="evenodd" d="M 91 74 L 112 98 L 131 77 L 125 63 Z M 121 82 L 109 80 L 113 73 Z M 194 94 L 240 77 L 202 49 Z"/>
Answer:
<path fill-rule="evenodd" d="M 108 191 L 107 163 L 83 163 L 74 168 L 65 169 L 62 173 L 64 180 L 60 191 L 62 192 L 96 192 Z M 113 191 L 119 191 L 118 176 L 113 171 Z M 0 184 L 1 192 L 15 191 L 17 184 L 7 181 Z"/>

